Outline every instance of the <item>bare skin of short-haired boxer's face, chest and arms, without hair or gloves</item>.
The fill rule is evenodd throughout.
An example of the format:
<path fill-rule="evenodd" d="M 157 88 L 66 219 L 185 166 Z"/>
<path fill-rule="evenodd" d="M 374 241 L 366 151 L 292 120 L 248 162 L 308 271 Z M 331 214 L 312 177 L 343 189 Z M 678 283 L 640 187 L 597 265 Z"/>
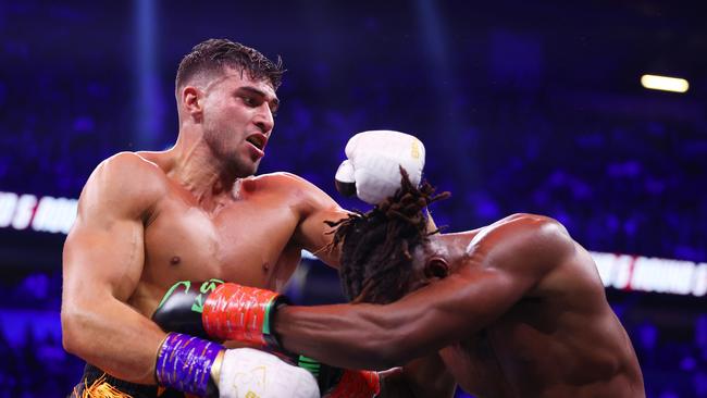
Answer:
<path fill-rule="evenodd" d="M 324 220 L 346 215 L 292 174 L 251 177 L 274 125 L 273 87 L 225 67 L 177 92 L 164 152 L 102 162 L 79 198 L 63 256 L 64 348 L 115 377 L 154 384 L 165 337 L 150 315 L 171 285 L 212 277 L 280 290 L 301 249 L 336 265 Z M 261 146 L 262 147 L 262 146 Z"/>

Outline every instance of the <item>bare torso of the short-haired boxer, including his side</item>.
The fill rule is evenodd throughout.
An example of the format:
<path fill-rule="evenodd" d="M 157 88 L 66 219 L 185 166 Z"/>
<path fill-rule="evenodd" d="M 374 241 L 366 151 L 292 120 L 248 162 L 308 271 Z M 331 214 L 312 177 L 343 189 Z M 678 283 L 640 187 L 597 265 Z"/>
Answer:
<path fill-rule="evenodd" d="M 141 156 L 159 164 L 159 154 Z M 287 195 L 287 175 L 240 179 L 213 210 L 164 178 L 164 195 L 145 216 L 145 266 L 128 304 L 150 316 L 178 281 L 221 278 L 283 289 L 301 252 L 293 241 L 299 203 Z"/>

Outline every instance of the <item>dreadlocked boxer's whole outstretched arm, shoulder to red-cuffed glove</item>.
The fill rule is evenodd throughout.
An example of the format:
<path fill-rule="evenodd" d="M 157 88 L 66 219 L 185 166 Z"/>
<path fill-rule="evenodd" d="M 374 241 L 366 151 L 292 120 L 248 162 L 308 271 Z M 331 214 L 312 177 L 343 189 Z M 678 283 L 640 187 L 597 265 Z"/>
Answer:
<path fill-rule="evenodd" d="M 574 252 L 565 228 L 522 216 L 481 231 L 460 269 L 386 306 L 285 307 L 275 333 L 288 350 L 344 368 L 387 369 L 489 325 Z"/>

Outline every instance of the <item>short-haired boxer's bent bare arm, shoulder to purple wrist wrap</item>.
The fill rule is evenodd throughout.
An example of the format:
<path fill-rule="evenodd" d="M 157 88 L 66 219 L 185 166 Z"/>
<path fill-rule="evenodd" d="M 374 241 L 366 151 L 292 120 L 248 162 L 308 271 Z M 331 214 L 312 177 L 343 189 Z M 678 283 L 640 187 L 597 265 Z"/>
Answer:
<path fill-rule="evenodd" d="M 63 253 L 66 351 L 113 376 L 154 384 L 165 334 L 126 301 L 144 265 L 144 219 L 161 192 L 153 165 L 122 153 L 98 166 L 79 198 Z M 150 178 L 153 177 L 153 178 Z"/>

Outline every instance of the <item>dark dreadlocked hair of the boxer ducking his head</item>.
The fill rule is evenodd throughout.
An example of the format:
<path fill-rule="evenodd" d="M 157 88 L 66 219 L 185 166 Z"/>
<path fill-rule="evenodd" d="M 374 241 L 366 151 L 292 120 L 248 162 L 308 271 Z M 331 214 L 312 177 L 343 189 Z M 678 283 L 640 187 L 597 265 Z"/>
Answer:
<path fill-rule="evenodd" d="M 388 303 L 402 297 L 411 282 L 412 252 L 439 232 L 427 231 L 423 210 L 450 194 L 434 195 L 426 182 L 417 188 L 405 169 L 400 174 L 400 189 L 373 210 L 326 222 L 336 227 L 333 247 L 343 245 L 339 279 L 349 301 Z"/>

